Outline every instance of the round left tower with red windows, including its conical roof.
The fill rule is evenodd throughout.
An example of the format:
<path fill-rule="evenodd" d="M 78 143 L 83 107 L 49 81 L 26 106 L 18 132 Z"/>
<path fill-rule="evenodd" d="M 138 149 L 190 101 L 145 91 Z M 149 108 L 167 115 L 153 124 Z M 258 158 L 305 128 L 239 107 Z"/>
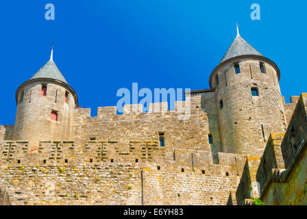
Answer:
<path fill-rule="evenodd" d="M 16 91 L 13 140 L 71 140 L 77 94 L 50 60 Z"/>

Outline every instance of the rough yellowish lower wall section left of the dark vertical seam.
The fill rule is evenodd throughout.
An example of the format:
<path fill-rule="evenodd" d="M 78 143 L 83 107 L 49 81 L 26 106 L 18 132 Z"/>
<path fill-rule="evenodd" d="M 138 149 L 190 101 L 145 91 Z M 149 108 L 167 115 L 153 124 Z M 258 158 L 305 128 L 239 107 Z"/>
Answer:
<path fill-rule="evenodd" d="M 12 205 L 141 205 L 131 164 L 1 166 L 0 179 Z"/>

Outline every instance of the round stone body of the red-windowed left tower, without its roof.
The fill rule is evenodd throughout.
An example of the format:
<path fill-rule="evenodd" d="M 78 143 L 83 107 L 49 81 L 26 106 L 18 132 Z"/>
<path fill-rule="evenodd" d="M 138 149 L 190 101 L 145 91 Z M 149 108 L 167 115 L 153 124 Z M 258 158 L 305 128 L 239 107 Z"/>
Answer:
<path fill-rule="evenodd" d="M 47 95 L 42 96 L 42 84 L 47 84 Z M 23 92 L 23 94 L 22 94 Z M 57 83 L 31 83 L 19 94 L 13 140 L 71 140 L 75 99 Z M 58 120 L 51 120 L 51 112 Z"/>

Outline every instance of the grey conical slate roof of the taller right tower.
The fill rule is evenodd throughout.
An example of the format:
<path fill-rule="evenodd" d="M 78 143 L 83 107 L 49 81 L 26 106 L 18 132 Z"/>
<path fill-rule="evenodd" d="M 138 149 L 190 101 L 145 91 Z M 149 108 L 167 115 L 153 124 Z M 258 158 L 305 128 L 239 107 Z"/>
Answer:
<path fill-rule="evenodd" d="M 259 53 L 254 47 L 251 47 L 251 45 L 246 42 L 240 35 L 237 35 L 221 62 L 241 55 L 261 55 L 261 53 Z"/>

